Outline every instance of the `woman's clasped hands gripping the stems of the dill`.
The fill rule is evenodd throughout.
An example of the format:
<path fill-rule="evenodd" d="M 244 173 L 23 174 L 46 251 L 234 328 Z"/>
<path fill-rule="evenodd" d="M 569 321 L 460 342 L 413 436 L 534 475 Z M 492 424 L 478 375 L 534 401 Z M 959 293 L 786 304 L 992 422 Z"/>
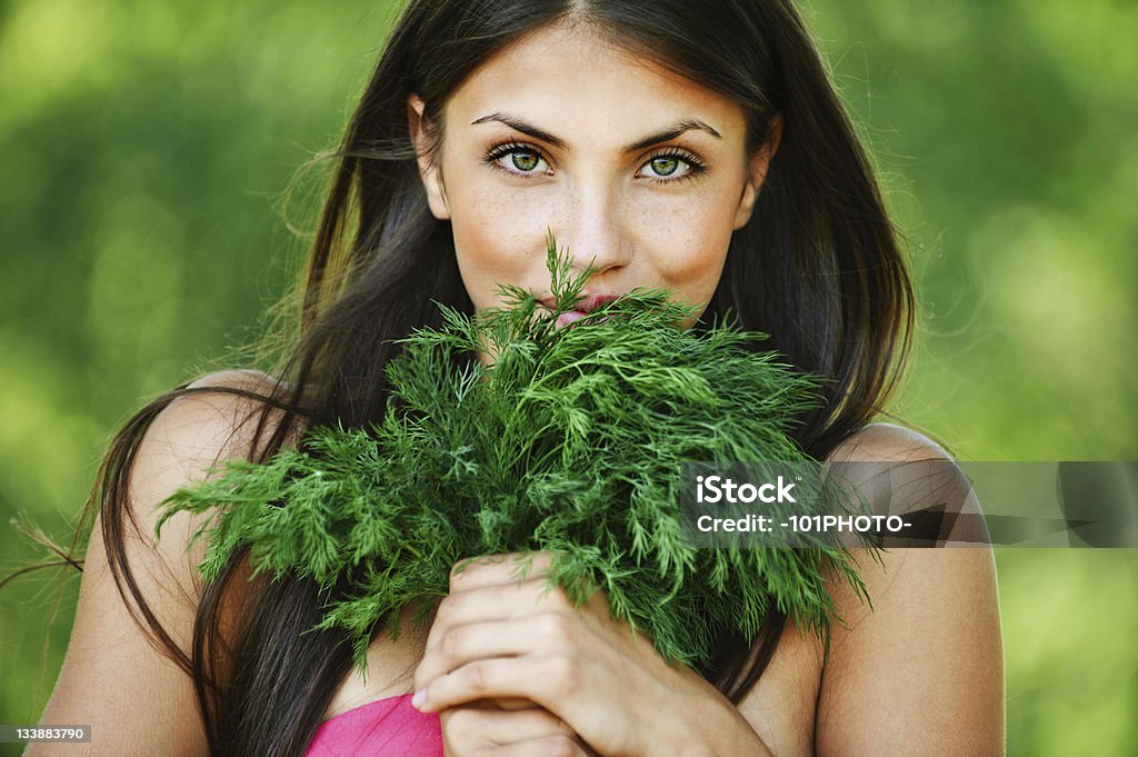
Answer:
<path fill-rule="evenodd" d="M 545 755 L 552 741 L 538 739 L 563 743 L 574 733 L 578 751 L 563 754 L 670 755 L 703 730 L 704 705 L 734 709 L 696 673 L 669 666 L 644 634 L 613 620 L 602 592 L 578 609 L 560 587 L 547 589 L 551 563 L 551 554 L 536 552 L 452 570 L 451 594 L 415 672 L 414 701 L 440 714 L 456 747 L 469 739 L 475 749 L 517 744 L 501 754 Z M 500 708 L 519 705 L 527 709 Z"/>

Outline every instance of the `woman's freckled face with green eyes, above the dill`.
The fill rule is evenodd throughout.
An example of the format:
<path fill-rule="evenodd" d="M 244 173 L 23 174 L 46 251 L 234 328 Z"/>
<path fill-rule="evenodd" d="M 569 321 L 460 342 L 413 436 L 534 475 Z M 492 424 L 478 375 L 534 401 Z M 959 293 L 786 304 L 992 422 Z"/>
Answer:
<path fill-rule="evenodd" d="M 434 164 L 423 102 L 409 105 L 476 308 L 500 283 L 549 298 L 549 229 L 575 269 L 593 264 L 586 295 L 662 288 L 702 312 L 773 149 L 748 156 L 742 108 L 585 27 L 542 28 L 476 69 L 444 106 Z"/>

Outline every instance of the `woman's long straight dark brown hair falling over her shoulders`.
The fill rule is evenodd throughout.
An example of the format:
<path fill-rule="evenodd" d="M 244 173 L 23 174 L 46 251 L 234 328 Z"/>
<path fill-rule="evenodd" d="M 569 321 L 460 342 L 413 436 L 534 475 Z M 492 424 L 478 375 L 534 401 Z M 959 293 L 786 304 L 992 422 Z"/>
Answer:
<path fill-rule="evenodd" d="M 913 326 L 913 291 L 866 155 L 790 0 L 412 0 L 368 83 L 336 161 L 305 283 L 295 348 L 277 388 L 180 387 L 135 415 L 104 461 L 90 508 L 124 599 L 192 675 L 214 755 L 300 755 L 351 665 L 320 619 L 307 581 L 254 584 L 231 636 L 223 599 L 247 556 L 204 587 L 189 651 L 149 612 L 125 558 L 126 484 L 152 419 L 195 392 L 255 397 L 264 408 L 251 459 L 314 425 L 365 427 L 387 404 L 384 367 L 395 339 L 434 323 L 432 301 L 469 311 L 450 224 L 429 212 L 406 98 L 427 104 L 439 145 L 443 106 L 465 75 L 523 34 L 556 20 L 586 23 L 626 49 L 719 92 L 745 112 L 748 150 L 781 143 L 747 227 L 731 242 L 707 318 L 732 313 L 770 334 L 766 347 L 827 379 L 826 403 L 801 419 L 797 441 L 824 458 L 881 411 Z M 239 578 L 240 577 L 240 578 Z M 786 623 L 773 615 L 757 640 L 725 635 L 700 670 L 739 703 L 767 666 Z M 224 643 L 223 643 L 224 642 Z M 220 660 L 224 659 L 224 664 Z"/>

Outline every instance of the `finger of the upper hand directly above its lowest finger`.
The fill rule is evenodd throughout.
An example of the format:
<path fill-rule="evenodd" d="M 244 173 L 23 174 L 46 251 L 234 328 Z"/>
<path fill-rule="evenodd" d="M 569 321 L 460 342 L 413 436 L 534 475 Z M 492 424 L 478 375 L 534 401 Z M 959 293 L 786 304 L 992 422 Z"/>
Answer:
<path fill-rule="evenodd" d="M 415 689 L 477 659 L 570 648 L 578 624 L 579 620 L 568 615 L 539 612 L 510 620 L 447 626 L 440 631 L 437 643 L 432 645 L 428 641 L 427 651 L 415 668 Z"/>

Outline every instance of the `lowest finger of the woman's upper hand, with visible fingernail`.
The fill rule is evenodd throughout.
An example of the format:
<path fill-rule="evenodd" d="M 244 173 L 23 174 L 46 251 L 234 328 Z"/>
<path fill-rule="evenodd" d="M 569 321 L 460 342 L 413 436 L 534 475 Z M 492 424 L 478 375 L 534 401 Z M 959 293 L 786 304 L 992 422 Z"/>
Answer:
<path fill-rule="evenodd" d="M 558 703 L 578 689 L 582 676 L 577 659 L 569 655 L 480 659 L 435 678 L 415 692 L 411 703 L 434 713 L 479 699 L 521 697 L 556 715 Z"/>

